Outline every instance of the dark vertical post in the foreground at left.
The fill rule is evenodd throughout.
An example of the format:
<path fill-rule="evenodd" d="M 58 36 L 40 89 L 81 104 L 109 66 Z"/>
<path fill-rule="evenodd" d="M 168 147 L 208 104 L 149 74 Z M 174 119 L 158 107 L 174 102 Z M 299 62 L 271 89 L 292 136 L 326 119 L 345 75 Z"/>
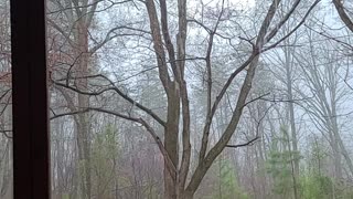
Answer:
<path fill-rule="evenodd" d="M 10 0 L 14 199 L 50 198 L 45 0 Z"/>

